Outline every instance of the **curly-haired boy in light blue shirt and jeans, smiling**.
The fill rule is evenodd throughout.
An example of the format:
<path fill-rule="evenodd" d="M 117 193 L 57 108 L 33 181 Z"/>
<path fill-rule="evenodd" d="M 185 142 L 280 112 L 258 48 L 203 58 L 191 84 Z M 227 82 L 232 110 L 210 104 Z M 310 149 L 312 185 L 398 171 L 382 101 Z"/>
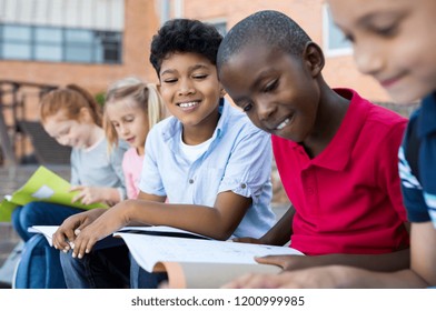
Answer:
<path fill-rule="evenodd" d="M 150 61 L 172 117 L 147 137 L 138 200 L 73 215 L 53 234 L 57 249 L 75 243 L 72 255 L 61 255 L 67 287 L 157 285 L 155 275 L 138 275 L 135 261 L 130 280 L 129 271 L 115 271 L 112 254 L 125 245 L 91 252 L 127 224 L 170 225 L 218 240 L 260 238 L 274 224 L 270 137 L 224 100 L 216 68 L 221 40 L 212 26 L 188 19 L 168 21 L 153 37 Z"/>

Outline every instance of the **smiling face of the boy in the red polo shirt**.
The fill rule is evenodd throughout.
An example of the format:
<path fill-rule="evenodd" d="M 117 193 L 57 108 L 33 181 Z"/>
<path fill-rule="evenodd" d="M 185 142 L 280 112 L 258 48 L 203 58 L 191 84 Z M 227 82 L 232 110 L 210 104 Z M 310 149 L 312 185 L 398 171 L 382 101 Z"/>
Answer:
<path fill-rule="evenodd" d="M 220 81 L 261 130 L 295 142 L 314 130 L 319 89 L 301 58 L 254 42 L 222 66 Z"/>

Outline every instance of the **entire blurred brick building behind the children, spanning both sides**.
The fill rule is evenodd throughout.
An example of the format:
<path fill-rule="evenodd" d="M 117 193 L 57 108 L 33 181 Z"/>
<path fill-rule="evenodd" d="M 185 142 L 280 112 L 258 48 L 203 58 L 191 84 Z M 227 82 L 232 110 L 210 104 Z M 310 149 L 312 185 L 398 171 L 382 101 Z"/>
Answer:
<path fill-rule="evenodd" d="M 324 48 L 327 57 L 324 76 L 331 86 L 348 86 L 373 100 L 388 100 L 376 82 L 357 72 L 350 49 L 329 48 L 331 33 L 323 0 L 0 0 L 0 80 L 50 84 L 75 82 L 92 92 L 102 91 L 111 81 L 129 74 L 153 81 L 156 74 L 148 63 L 149 42 L 165 19 L 196 18 L 229 29 L 246 16 L 264 9 L 289 14 Z M 11 27 L 24 29 L 10 31 Z M 61 30 L 63 38 L 70 30 L 83 30 L 85 33 L 75 36 L 90 34 L 88 37 L 93 36 L 96 40 L 100 40 L 98 32 L 116 33 L 120 37 L 116 42 L 119 50 L 103 51 L 109 58 L 112 53 L 112 59 L 106 63 L 105 59 L 75 58 L 75 51 L 80 54 L 80 42 L 77 48 L 66 40 L 58 46 L 56 42 L 51 44 L 50 38 L 46 38 L 47 42 L 38 41 L 41 29 Z M 29 39 L 17 36 L 26 31 Z M 47 33 L 46 37 L 50 37 L 50 32 Z M 41 36 L 44 36 L 43 31 Z M 12 44 L 12 49 L 8 48 Z M 32 51 L 28 56 L 18 53 L 13 57 L 20 44 Z M 67 58 L 44 58 L 50 47 L 67 50 L 63 52 Z M 69 49 L 72 59 L 68 59 Z M 113 57 L 113 53 L 118 56 Z"/>

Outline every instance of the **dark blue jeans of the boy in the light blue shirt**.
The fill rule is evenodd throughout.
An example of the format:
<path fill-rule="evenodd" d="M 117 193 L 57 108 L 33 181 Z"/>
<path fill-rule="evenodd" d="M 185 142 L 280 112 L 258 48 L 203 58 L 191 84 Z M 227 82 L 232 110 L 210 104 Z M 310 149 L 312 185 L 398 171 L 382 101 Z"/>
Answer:
<path fill-rule="evenodd" d="M 108 238 L 107 238 L 108 239 Z M 110 238 L 112 240 L 120 240 Z M 100 243 L 100 242 L 99 242 Z M 129 254 L 126 244 L 95 248 L 82 259 L 72 258 L 71 251 L 61 252 L 63 277 L 69 289 L 156 289 L 166 273 L 142 270 Z"/>

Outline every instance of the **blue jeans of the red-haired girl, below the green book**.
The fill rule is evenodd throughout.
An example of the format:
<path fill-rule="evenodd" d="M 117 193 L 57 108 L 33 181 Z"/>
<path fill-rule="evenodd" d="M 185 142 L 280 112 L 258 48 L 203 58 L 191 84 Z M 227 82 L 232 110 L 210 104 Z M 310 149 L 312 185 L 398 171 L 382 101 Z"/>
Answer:
<path fill-rule="evenodd" d="M 81 209 L 47 203 L 30 202 L 18 207 L 12 212 L 12 225 L 21 239 L 28 241 L 34 233 L 29 233 L 32 225 L 59 225 L 72 214 L 82 212 Z"/>

